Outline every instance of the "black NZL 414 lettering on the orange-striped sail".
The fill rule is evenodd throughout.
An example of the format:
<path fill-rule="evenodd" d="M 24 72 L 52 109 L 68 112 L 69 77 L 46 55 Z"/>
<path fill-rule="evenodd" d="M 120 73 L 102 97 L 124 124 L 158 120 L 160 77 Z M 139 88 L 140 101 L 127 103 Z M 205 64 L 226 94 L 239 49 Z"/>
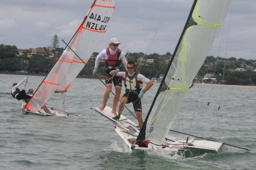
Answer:
<path fill-rule="evenodd" d="M 109 20 L 110 17 L 101 17 L 101 15 L 91 13 L 89 21 L 86 22 L 86 27 L 92 30 L 104 31 Z"/>

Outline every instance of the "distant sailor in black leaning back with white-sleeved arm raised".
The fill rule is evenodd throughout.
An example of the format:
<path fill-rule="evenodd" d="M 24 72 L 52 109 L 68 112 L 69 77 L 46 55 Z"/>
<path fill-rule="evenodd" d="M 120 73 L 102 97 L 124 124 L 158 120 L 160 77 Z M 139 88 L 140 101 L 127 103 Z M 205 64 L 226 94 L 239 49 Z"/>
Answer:
<path fill-rule="evenodd" d="M 13 83 L 13 88 L 11 89 L 11 95 L 13 96 L 13 98 L 17 99 L 17 100 L 25 100 L 27 102 L 27 100 L 29 100 L 31 98 L 30 95 L 26 94 L 25 90 L 19 90 L 19 86 L 21 86 L 21 84 L 23 84 L 25 81 L 27 80 L 27 77 L 25 77 L 25 79 L 23 79 L 21 82 L 17 83 Z"/>

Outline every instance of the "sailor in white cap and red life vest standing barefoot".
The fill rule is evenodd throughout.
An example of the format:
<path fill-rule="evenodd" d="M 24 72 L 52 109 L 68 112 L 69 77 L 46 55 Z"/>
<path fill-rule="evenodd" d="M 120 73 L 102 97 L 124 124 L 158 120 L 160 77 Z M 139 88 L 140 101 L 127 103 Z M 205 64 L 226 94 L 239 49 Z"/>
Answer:
<path fill-rule="evenodd" d="M 119 68 L 121 64 L 123 63 L 123 66 L 125 67 L 127 71 L 127 60 L 125 58 L 125 54 L 118 48 L 118 45 L 121 44 L 118 42 L 117 38 L 111 38 L 109 47 L 102 50 L 95 59 L 95 66 L 93 70 L 93 75 L 97 72 L 97 68 L 99 66 L 99 61 L 101 58 L 105 59 L 106 64 L 106 72 L 105 72 L 105 82 L 106 82 L 106 91 L 103 96 L 103 102 L 102 105 L 99 107 L 100 110 L 104 110 L 106 107 L 107 100 L 109 99 L 109 94 L 112 89 L 112 82 L 115 86 L 115 96 L 113 101 L 113 107 L 111 110 L 111 113 L 114 114 L 114 116 L 117 116 L 117 103 L 121 95 L 122 90 L 122 79 L 118 76 L 111 76 L 110 71 L 114 71 L 115 69 Z"/>

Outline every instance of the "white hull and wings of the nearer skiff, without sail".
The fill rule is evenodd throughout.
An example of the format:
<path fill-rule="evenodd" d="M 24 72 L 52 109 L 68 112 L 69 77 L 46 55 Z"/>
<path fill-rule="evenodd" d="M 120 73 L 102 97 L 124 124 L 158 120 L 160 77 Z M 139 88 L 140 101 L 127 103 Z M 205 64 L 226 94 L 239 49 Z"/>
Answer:
<path fill-rule="evenodd" d="M 118 135 L 125 141 L 125 143 L 131 149 L 140 149 L 140 150 L 152 150 L 152 149 L 163 149 L 170 151 L 186 151 L 190 150 L 201 150 L 205 152 L 218 152 L 223 144 L 215 141 L 208 140 L 166 140 L 162 145 L 155 145 L 152 143 L 148 144 L 148 147 L 139 147 L 135 144 L 137 136 L 139 134 L 139 128 L 137 124 L 132 122 L 130 119 L 127 119 L 125 116 L 121 115 L 119 121 L 116 121 L 111 114 L 111 108 L 106 106 L 103 111 L 99 110 L 98 107 L 92 107 L 99 114 L 102 114 L 106 118 L 110 119 L 111 122 L 115 123 L 115 131 Z"/>

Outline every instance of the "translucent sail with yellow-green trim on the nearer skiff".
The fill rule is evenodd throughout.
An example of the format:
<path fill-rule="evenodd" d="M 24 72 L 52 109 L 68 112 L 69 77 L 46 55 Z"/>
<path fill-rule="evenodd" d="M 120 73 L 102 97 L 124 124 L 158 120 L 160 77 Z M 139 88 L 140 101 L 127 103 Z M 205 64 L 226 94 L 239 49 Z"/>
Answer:
<path fill-rule="evenodd" d="M 139 135 L 144 133 L 145 140 L 159 145 L 165 140 L 193 79 L 217 37 L 229 5 L 227 0 L 194 2 L 172 63 L 162 87 L 159 87 L 161 90 L 158 90 L 155 104 L 145 120 L 145 132 L 142 128 Z"/>

